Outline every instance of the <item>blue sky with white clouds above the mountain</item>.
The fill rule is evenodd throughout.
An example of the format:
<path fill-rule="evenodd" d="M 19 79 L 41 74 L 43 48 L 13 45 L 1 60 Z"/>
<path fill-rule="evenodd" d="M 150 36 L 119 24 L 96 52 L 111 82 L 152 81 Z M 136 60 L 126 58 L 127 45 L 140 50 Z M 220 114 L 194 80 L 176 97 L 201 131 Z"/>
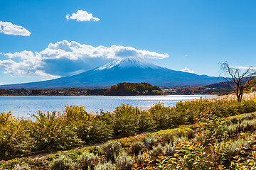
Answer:
<path fill-rule="evenodd" d="M 236 0 L 1 0 L 0 84 L 77 74 L 119 52 L 215 77 L 220 62 L 255 66 L 255 8 Z"/>

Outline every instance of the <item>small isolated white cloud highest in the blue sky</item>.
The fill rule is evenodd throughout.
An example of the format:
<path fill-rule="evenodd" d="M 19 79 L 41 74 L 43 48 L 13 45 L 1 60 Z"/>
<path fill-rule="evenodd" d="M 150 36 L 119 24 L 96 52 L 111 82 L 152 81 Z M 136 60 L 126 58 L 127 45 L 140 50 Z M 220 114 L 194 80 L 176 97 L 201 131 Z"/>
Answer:
<path fill-rule="evenodd" d="M 66 15 L 67 20 L 73 19 L 76 21 L 100 21 L 99 18 L 93 17 L 92 13 L 87 13 L 87 11 L 78 10 L 77 13 L 72 13 Z"/>

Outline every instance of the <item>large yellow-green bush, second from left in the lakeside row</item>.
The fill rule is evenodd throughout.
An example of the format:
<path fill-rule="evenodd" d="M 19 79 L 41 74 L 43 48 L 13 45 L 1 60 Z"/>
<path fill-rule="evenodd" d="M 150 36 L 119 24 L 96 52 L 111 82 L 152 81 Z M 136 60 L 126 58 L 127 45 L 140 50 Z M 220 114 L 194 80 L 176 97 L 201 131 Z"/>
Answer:
<path fill-rule="evenodd" d="M 67 124 L 59 113 L 38 112 L 31 127 L 36 149 L 66 149 L 79 144 L 73 126 Z"/>

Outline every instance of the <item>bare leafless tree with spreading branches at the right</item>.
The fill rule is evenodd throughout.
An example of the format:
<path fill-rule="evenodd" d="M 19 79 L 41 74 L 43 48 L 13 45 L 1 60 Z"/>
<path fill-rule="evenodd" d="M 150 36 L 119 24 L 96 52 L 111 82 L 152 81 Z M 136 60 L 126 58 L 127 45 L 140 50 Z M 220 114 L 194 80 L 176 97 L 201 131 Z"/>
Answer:
<path fill-rule="evenodd" d="M 228 62 L 224 62 L 220 64 L 220 71 L 220 74 L 224 74 L 224 79 L 230 89 L 235 92 L 238 102 L 242 101 L 244 89 L 250 86 L 250 81 L 256 74 L 255 67 L 246 67 L 245 72 L 241 72 L 239 68 L 232 67 Z M 235 84 L 235 88 L 231 84 Z"/>

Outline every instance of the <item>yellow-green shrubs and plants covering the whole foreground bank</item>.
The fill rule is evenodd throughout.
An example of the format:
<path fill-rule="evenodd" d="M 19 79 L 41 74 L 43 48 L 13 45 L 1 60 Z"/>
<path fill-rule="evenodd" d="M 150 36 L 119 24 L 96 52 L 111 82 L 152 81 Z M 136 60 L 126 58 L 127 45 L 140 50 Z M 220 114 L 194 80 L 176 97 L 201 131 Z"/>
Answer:
<path fill-rule="evenodd" d="M 39 112 L 34 120 L 1 113 L 0 169 L 252 169 L 256 95 L 244 98 L 201 98 L 173 108 L 157 103 L 146 111 L 122 105 L 100 115 L 65 106 L 64 113 Z M 122 138 L 41 159 L 18 158 L 112 137 Z"/>

